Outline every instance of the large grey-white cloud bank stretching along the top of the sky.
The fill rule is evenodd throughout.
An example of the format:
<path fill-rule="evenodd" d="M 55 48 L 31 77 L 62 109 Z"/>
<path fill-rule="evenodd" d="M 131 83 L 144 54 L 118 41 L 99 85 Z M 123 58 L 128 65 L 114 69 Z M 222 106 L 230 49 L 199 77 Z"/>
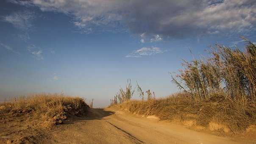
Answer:
<path fill-rule="evenodd" d="M 184 38 L 250 33 L 256 26 L 255 0 L 11 0 L 42 11 L 75 16 L 81 32 L 118 30 Z M 15 21 L 14 21 L 15 23 Z M 15 25 L 19 25 L 16 24 Z M 19 25 L 19 26 L 22 26 Z"/>

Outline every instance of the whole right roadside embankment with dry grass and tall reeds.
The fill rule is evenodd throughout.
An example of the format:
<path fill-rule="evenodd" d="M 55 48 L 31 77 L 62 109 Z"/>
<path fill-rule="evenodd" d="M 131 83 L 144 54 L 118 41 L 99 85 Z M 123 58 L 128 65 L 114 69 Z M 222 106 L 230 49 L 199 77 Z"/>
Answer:
<path fill-rule="evenodd" d="M 241 133 L 255 127 L 256 45 L 244 40 L 245 50 L 216 45 L 208 58 L 184 61 L 184 69 L 172 76 L 180 93 L 154 99 L 146 91 L 146 101 L 130 100 L 134 91 L 129 84 L 125 90 L 120 89 L 111 104 L 117 104 L 118 98 L 121 103 L 116 105 L 118 108 L 160 119 L 190 121 L 189 125 L 217 131 Z M 137 90 L 143 99 L 139 85 Z"/>

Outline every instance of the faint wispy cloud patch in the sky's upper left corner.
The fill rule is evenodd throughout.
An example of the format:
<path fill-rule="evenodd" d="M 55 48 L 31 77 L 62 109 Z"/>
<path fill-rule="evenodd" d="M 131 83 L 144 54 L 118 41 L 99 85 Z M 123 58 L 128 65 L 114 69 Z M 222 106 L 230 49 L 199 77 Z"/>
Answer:
<path fill-rule="evenodd" d="M 19 11 L 3 17 L 3 21 L 11 23 L 15 28 L 20 30 L 30 30 L 32 27 L 32 20 L 35 14 L 29 11 Z"/>

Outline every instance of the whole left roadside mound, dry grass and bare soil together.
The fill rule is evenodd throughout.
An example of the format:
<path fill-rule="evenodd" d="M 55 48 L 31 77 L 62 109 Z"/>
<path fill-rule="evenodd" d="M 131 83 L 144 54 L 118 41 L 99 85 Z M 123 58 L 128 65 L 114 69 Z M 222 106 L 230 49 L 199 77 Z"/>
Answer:
<path fill-rule="evenodd" d="M 40 143 L 54 125 L 87 115 L 83 99 L 40 94 L 0 104 L 0 143 Z"/>

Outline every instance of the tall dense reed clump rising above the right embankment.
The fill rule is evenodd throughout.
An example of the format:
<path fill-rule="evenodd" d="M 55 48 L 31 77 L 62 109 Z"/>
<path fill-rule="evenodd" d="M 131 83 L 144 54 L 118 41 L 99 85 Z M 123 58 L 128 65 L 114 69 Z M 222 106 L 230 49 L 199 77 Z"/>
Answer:
<path fill-rule="evenodd" d="M 242 39 L 245 51 L 216 45 L 209 52 L 211 57 L 184 61 L 185 69 L 172 77 L 173 83 L 197 101 L 219 97 L 244 104 L 255 102 L 256 45 Z"/>

